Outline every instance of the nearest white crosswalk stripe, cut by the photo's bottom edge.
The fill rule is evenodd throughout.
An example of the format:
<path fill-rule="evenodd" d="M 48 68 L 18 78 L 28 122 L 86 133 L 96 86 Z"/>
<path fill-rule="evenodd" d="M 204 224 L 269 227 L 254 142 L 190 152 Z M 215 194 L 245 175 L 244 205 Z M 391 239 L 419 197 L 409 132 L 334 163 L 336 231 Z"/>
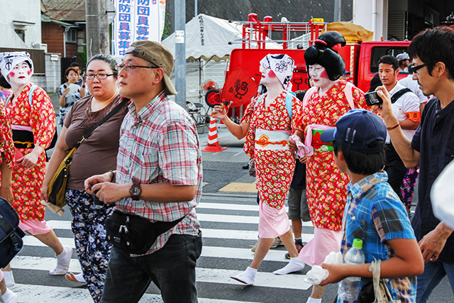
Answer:
<path fill-rule="evenodd" d="M 80 303 L 93 302 L 87 289 L 58 287 L 45 285 L 24 285 L 16 284 L 9 287 L 18 295 L 19 302 L 40 302 L 40 303 Z M 144 294 L 139 303 L 162 303 L 160 294 Z M 241 303 L 225 299 L 199 298 L 200 303 Z M 257 302 L 249 302 L 257 303 Z"/>

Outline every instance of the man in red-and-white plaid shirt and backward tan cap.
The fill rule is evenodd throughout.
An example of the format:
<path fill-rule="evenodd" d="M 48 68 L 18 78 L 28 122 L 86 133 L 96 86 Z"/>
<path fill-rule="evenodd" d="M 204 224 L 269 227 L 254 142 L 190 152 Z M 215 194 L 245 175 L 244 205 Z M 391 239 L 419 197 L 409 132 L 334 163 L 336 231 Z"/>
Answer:
<path fill-rule="evenodd" d="M 167 48 L 145 40 L 133 43 L 118 65 L 120 94 L 132 103 L 121 126 L 117 170 L 90 177 L 86 189 L 99 190 L 104 203 L 116 202 L 117 209 L 152 222 L 183 219 L 158 236 L 145 255 L 112 248 L 104 303 L 138 302 L 151 281 L 166 303 L 197 302 L 201 153 L 194 122 L 167 99 L 177 94 L 169 78 L 173 67 Z"/>

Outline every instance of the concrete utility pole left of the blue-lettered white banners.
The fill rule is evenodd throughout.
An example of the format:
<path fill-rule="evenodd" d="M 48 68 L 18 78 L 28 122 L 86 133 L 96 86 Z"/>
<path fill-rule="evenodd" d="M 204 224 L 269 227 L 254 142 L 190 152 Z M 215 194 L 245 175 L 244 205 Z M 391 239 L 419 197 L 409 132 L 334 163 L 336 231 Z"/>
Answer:
<path fill-rule="evenodd" d="M 110 54 L 106 1 L 108 0 L 85 0 L 88 58 L 97 54 Z"/>

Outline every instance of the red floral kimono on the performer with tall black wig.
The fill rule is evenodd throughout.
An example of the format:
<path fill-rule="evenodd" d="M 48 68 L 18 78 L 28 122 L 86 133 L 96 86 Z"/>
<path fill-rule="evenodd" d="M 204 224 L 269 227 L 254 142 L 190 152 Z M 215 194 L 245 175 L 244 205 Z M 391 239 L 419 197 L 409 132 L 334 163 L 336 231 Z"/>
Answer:
<path fill-rule="evenodd" d="M 335 126 L 341 116 L 350 111 L 345 93 L 346 82 L 338 81 L 331 89 L 319 96 L 318 90 L 312 94 L 306 107 L 301 109 L 297 128 L 306 136 L 306 126 L 319 124 Z M 366 106 L 364 93 L 354 87 L 355 108 Z M 319 148 L 319 134 L 315 133 L 313 146 Z M 315 141 L 315 142 L 314 142 Z M 347 202 L 348 176 L 344 175 L 333 160 L 331 151 L 314 151 L 306 163 L 306 194 L 311 220 L 317 228 L 341 231 L 345 203 Z"/>

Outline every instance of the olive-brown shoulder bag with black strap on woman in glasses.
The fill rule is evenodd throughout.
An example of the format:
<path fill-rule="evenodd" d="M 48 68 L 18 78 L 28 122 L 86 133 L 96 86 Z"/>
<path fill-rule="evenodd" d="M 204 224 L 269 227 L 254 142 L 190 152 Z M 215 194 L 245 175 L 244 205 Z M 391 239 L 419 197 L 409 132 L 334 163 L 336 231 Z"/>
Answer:
<path fill-rule="evenodd" d="M 109 120 L 111 116 L 114 116 L 117 111 L 121 109 L 126 103 L 128 103 L 129 99 L 123 99 L 120 104 L 115 106 L 114 109 L 112 109 L 109 114 L 106 114 L 103 119 L 98 121 L 90 130 L 82 136 L 82 140 L 77 142 L 77 144 L 70 150 L 70 153 L 67 154 L 65 159 L 62 160 L 60 163 L 60 166 L 58 167 L 57 171 L 53 175 L 52 179 L 49 182 L 48 185 L 48 197 L 49 197 L 49 202 L 48 203 L 43 203 L 46 206 L 49 206 L 49 209 L 55 213 L 59 212 L 63 206 L 66 205 L 65 201 L 65 192 L 66 192 L 66 184 L 67 184 L 67 179 L 68 179 L 68 170 L 70 168 L 70 165 L 72 163 L 72 157 L 74 153 L 76 152 L 77 148 L 86 141 L 89 136 L 92 135 L 93 131 L 98 128 L 102 123 L 106 122 Z M 52 205 L 49 205 L 52 204 Z M 56 206 L 56 207 L 52 207 Z M 61 214 L 60 214 L 61 215 Z"/>

